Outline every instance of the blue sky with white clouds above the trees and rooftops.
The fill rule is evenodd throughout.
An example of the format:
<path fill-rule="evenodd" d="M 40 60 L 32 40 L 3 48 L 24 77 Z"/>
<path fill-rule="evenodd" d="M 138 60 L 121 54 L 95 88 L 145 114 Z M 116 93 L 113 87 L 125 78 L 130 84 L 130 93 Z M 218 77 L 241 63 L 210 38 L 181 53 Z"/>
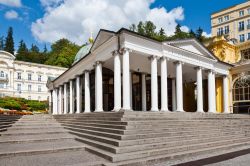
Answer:
<path fill-rule="evenodd" d="M 16 1 L 17 4 L 13 5 L 13 4 L 10 4 L 8 1 L 10 2 Z M 70 0 L 66 0 L 66 1 L 70 1 Z M 71 1 L 80 2 L 81 0 L 71 0 Z M 82 1 L 85 1 L 85 0 L 82 0 Z M 126 14 L 126 12 L 125 14 L 123 13 L 124 17 L 121 17 L 119 13 L 117 15 L 114 14 L 115 15 L 114 18 L 112 15 L 110 16 L 109 14 L 105 16 L 105 14 L 103 14 L 104 12 L 102 12 L 101 9 L 99 10 L 99 7 L 98 7 L 98 5 L 103 6 L 101 3 L 96 5 L 97 10 L 95 10 L 94 3 L 90 3 L 90 7 L 88 7 L 87 9 L 85 9 L 84 7 L 83 9 L 84 11 L 92 10 L 91 12 L 93 12 L 93 15 L 97 16 L 97 17 L 94 17 L 94 16 L 92 17 L 91 12 L 88 12 L 87 13 L 88 16 L 85 17 L 83 16 L 83 14 L 81 14 L 81 9 L 80 10 L 74 9 L 74 7 L 77 8 L 77 5 L 70 4 L 69 2 L 67 5 L 65 5 L 65 9 L 64 9 L 65 12 L 64 12 L 62 7 L 60 6 L 64 3 L 62 0 L 40 0 L 40 1 L 39 0 L 0 0 L 0 11 L 1 11 L 0 13 L 0 36 L 6 36 L 8 27 L 12 26 L 14 28 L 14 39 L 15 39 L 16 47 L 18 45 L 18 42 L 21 39 L 23 39 L 29 47 L 32 43 L 35 43 L 42 49 L 45 44 L 49 45 L 51 42 L 61 37 L 66 37 L 78 44 L 82 44 L 86 42 L 86 39 L 88 38 L 88 33 L 90 31 L 90 30 L 88 31 L 82 30 L 84 28 L 91 29 L 91 31 L 93 31 L 95 35 L 96 31 L 98 31 L 97 29 L 99 28 L 109 28 L 111 30 L 116 30 L 120 26 L 128 27 L 128 25 L 130 25 L 130 23 L 132 23 L 133 20 L 139 20 L 139 19 L 146 20 L 147 18 L 151 18 L 152 20 L 155 20 L 157 25 L 165 26 L 163 25 L 164 22 L 165 21 L 168 22 L 168 19 L 171 19 L 171 17 L 175 17 L 175 18 L 174 18 L 174 21 L 168 22 L 170 29 L 171 29 L 171 26 L 175 25 L 175 23 L 180 23 L 186 28 L 193 29 L 193 30 L 197 29 L 200 26 L 201 28 L 204 29 L 204 31 L 206 31 L 209 34 L 211 13 L 221 10 L 223 8 L 238 4 L 238 3 L 245 2 L 245 0 L 156 0 L 154 3 L 151 4 L 150 2 L 148 3 L 143 2 L 143 1 L 149 1 L 149 0 L 141 0 L 141 1 L 142 2 L 139 4 L 142 4 L 142 7 L 141 7 L 142 9 L 138 7 L 138 9 L 137 8 L 135 9 L 138 11 L 133 13 L 134 15 L 137 15 L 137 14 L 142 15 L 141 18 L 140 16 L 138 16 L 137 19 L 132 19 L 131 17 L 133 16 Z M 107 1 L 107 4 L 108 3 L 109 2 Z M 116 4 L 110 4 L 110 5 L 112 5 L 113 7 L 118 6 L 120 9 L 122 9 L 122 6 L 126 5 L 125 3 L 127 2 L 124 2 L 123 4 L 118 2 Z M 147 9 L 147 13 L 145 13 L 143 5 L 147 5 L 147 4 L 150 4 L 149 5 L 150 7 L 149 9 Z M 71 6 L 69 8 L 70 5 L 72 5 L 73 7 Z M 137 5 L 137 4 L 134 4 L 134 5 Z M 84 2 L 83 2 L 83 6 L 84 6 Z M 160 11 L 160 10 L 157 10 L 158 12 L 150 11 L 155 8 L 156 9 L 164 8 L 166 11 Z M 128 10 L 130 9 L 133 9 L 133 8 L 129 8 Z M 180 9 L 180 10 L 175 10 L 175 9 Z M 111 10 L 113 10 L 113 8 Z M 14 11 L 14 14 L 13 14 L 13 11 Z M 105 9 L 105 11 L 107 11 L 107 9 Z M 7 12 L 10 12 L 8 16 L 7 16 Z M 18 14 L 18 16 L 15 15 L 15 12 Z M 72 17 L 68 18 L 67 12 L 72 13 L 73 18 Z M 110 11 L 107 11 L 107 13 L 108 12 Z M 160 13 L 160 16 L 161 16 L 161 13 L 166 14 L 165 20 L 160 18 L 159 15 L 157 15 L 157 13 Z M 171 13 L 174 13 L 174 14 L 171 14 Z M 104 16 L 101 16 L 102 19 L 98 20 L 98 16 L 100 16 L 100 14 Z M 79 19 L 74 20 L 74 16 L 79 17 Z M 184 16 L 184 18 L 181 18 L 182 16 Z M 65 17 L 65 21 L 64 21 L 64 17 Z M 110 17 L 112 18 L 109 20 Z M 38 23 L 37 22 L 38 19 L 42 19 L 43 21 L 41 23 Z M 120 20 L 127 19 L 127 21 L 120 22 L 119 19 Z M 158 20 L 162 20 L 162 21 L 158 22 Z M 79 22 L 81 22 L 81 24 Z M 32 27 L 32 23 L 35 24 L 33 27 Z M 86 26 L 86 24 L 87 25 L 93 24 L 93 27 L 95 28 Z M 168 26 L 164 27 L 164 29 L 165 30 L 168 29 Z M 172 33 L 172 31 L 173 30 L 169 30 L 169 33 Z"/>

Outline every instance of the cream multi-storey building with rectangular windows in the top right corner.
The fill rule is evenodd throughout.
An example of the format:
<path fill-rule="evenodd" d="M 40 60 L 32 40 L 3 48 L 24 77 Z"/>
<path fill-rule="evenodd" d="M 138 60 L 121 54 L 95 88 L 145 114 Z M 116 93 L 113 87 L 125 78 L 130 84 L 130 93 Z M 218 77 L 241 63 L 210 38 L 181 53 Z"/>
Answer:
<path fill-rule="evenodd" d="M 250 1 L 211 15 L 212 36 L 227 35 L 238 43 L 250 40 Z"/>

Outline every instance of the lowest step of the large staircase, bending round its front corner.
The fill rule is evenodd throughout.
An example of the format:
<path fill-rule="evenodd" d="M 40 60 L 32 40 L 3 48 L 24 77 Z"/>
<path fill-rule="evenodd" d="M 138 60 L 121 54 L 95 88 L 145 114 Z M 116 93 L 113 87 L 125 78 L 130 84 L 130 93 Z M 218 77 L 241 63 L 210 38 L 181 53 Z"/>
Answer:
<path fill-rule="evenodd" d="M 140 158 L 147 158 L 157 155 L 172 155 L 174 153 L 186 152 L 189 153 L 190 151 L 199 150 L 204 151 L 206 149 L 219 149 L 220 147 L 223 148 L 230 148 L 233 145 L 246 145 L 250 144 L 249 138 L 237 139 L 237 140 L 226 140 L 226 141 L 216 141 L 216 142 L 209 142 L 209 143 L 201 143 L 201 144 L 194 144 L 189 146 L 177 146 L 173 148 L 158 148 L 153 150 L 145 150 L 145 151 L 138 151 L 138 152 L 129 152 L 124 154 L 113 154 L 98 148 L 94 147 L 86 147 L 88 151 L 100 155 L 112 162 L 119 162 L 125 160 L 133 160 L 133 159 L 140 159 Z"/>

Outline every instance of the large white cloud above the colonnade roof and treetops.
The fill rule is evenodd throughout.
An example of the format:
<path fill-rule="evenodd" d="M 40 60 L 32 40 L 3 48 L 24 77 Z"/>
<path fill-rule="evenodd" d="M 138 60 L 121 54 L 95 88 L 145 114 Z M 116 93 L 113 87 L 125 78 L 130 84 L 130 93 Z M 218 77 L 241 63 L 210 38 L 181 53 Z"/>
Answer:
<path fill-rule="evenodd" d="M 45 8 L 42 18 L 32 23 L 34 37 L 43 42 L 68 38 L 85 43 L 92 31 L 100 28 L 118 30 L 132 23 L 150 20 L 167 35 L 175 31 L 177 21 L 184 19 L 182 7 L 167 11 L 164 7 L 150 9 L 153 0 L 40 0 Z M 183 29 L 187 29 L 185 26 Z"/>

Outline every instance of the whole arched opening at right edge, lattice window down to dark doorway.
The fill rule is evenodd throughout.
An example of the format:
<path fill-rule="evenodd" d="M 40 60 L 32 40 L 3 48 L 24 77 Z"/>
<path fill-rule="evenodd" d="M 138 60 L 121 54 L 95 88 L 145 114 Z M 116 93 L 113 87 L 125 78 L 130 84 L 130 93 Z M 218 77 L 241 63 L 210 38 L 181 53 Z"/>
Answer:
<path fill-rule="evenodd" d="M 250 109 L 250 75 L 244 73 L 233 84 L 234 113 L 248 113 Z"/>

